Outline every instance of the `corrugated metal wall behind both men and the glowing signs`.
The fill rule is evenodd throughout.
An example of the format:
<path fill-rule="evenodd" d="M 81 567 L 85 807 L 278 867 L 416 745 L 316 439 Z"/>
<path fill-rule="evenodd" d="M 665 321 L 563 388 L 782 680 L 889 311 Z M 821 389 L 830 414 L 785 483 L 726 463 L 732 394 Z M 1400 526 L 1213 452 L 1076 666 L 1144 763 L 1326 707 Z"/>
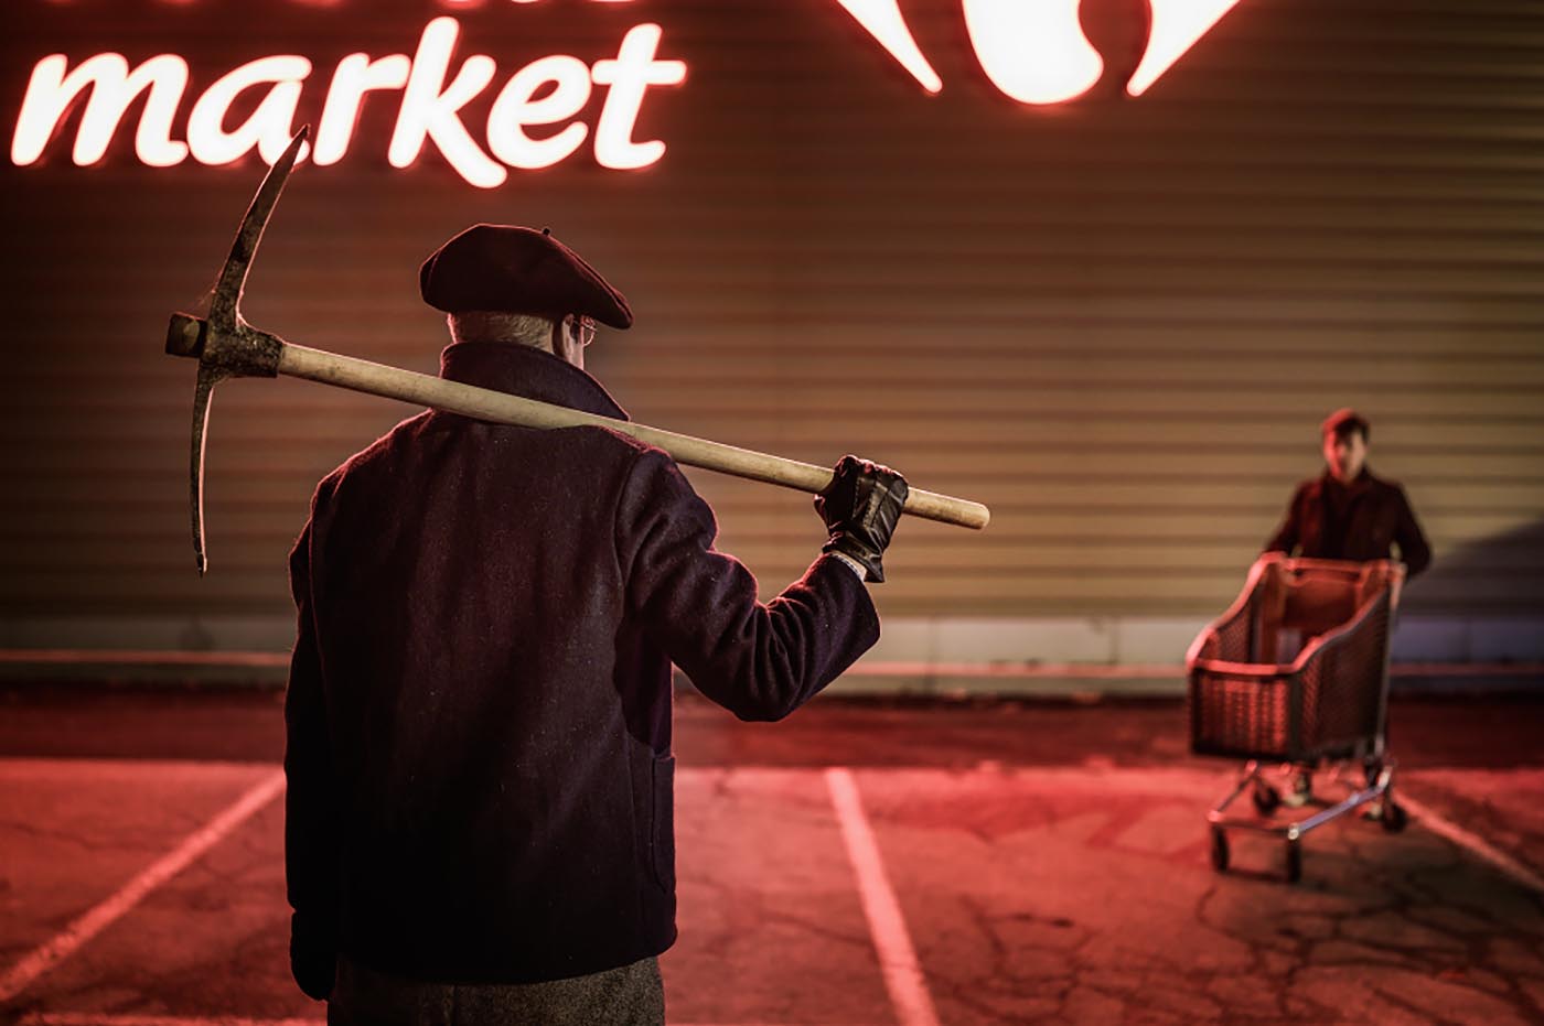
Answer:
<path fill-rule="evenodd" d="M 8 12 L 0 110 L 56 51 L 181 52 L 195 88 L 300 52 L 315 119 L 337 59 L 411 52 L 442 12 L 86 6 Z M 494 54 L 500 82 L 659 22 L 662 56 L 692 68 L 644 105 L 664 160 L 621 174 L 581 154 L 480 191 L 432 154 L 389 168 L 395 102 L 377 97 L 343 164 L 292 181 L 247 316 L 432 370 L 418 261 L 474 221 L 550 224 L 633 301 L 638 327 L 604 335 L 591 370 L 635 418 L 815 463 L 855 451 L 991 505 L 984 534 L 903 525 L 886 614 L 1217 611 L 1342 404 L 1371 417 L 1374 467 L 1436 543 L 1413 603 L 1544 606 L 1544 8 L 1244 0 L 1147 96 L 1051 110 L 987 82 L 954 0 L 905 9 L 936 97 L 832 0 L 459 14 L 460 52 Z M 76 119 L 43 165 L 0 170 L 0 611 L 284 614 L 315 480 L 411 410 L 222 386 L 198 580 L 191 366 L 159 339 L 261 168 L 151 171 L 131 128 L 74 168 Z M 693 480 L 769 591 L 803 569 L 808 498 Z"/>

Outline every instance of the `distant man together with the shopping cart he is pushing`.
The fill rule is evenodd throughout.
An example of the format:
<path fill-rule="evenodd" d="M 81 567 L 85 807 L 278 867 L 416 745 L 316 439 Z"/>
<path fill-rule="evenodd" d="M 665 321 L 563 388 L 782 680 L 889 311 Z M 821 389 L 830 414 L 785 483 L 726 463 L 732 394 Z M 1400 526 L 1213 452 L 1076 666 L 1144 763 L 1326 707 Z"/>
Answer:
<path fill-rule="evenodd" d="M 1368 469 L 1370 434 L 1351 409 L 1323 421 L 1325 472 L 1299 484 L 1243 592 L 1190 646 L 1190 747 L 1246 761 L 1207 816 L 1218 870 L 1231 861 L 1227 830 L 1282 838 L 1295 881 L 1300 839 L 1331 819 L 1363 808 L 1385 830 L 1405 825 L 1387 745 L 1390 637 L 1403 582 L 1431 551 L 1403 489 Z M 1285 788 L 1269 781 L 1272 765 Z M 1342 798 L 1314 795 L 1320 767 Z M 1258 816 L 1231 816 L 1246 790 Z M 1309 815 L 1283 822 L 1282 805 Z"/>

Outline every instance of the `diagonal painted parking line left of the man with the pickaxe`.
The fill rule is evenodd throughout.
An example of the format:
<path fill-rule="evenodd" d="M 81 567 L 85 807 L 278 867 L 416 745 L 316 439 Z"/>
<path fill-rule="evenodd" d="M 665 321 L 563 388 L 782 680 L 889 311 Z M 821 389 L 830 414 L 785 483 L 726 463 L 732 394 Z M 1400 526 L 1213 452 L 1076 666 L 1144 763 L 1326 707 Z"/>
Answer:
<path fill-rule="evenodd" d="M 139 904 L 145 895 L 167 883 L 193 861 L 219 844 L 221 838 L 239 827 L 253 813 L 267 805 L 284 790 L 284 771 L 279 770 L 242 795 L 236 804 L 210 819 L 204 827 L 190 833 L 182 844 L 167 852 L 148 866 L 139 876 L 124 884 L 116 893 L 108 896 L 79 920 L 66 926 L 42 947 L 34 949 L 22 961 L 11 966 L 0 977 L 0 1001 L 8 1001 L 20 994 L 29 983 L 69 958 L 82 944 L 111 926 L 125 912 Z M 232 1020 L 238 1021 L 238 1020 Z"/>

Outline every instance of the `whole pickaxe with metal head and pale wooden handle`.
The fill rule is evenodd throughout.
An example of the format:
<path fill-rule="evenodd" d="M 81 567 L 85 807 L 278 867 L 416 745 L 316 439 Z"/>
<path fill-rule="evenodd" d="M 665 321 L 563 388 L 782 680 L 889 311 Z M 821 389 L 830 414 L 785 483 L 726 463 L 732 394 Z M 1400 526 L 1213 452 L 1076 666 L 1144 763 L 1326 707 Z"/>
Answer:
<path fill-rule="evenodd" d="M 645 427 L 610 417 L 582 413 L 564 406 L 537 403 L 536 400 L 479 389 L 459 381 L 446 381 L 400 367 L 307 349 L 286 343 L 278 335 L 258 330 L 241 316 L 241 292 L 252 268 L 252 258 L 262 241 L 262 228 L 273 213 L 284 181 L 295 167 L 295 156 L 309 134 L 309 127 L 290 140 L 284 154 L 269 168 L 258 194 L 253 196 L 247 216 L 241 221 L 230 258 L 215 285 L 215 299 L 208 318 L 188 313 L 173 313 L 167 329 L 167 353 L 198 358 L 198 386 L 193 390 L 193 457 L 188 464 L 193 509 L 193 554 L 202 574 L 208 560 L 204 554 L 204 443 L 208 437 L 208 403 L 215 386 L 225 378 L 261 376 L 281 373 L 334 384 L 355 392 L 369 392 L 405 403 L 462 413 L 496 424 L 519 424 L 522 427 L 576 427 L 593 424 L 631 435 L 648 444 L 659 446 L 676 463 L 698 466 L 735 477 L 781 484 L 804 492 L 818 492 L 831 483 L 831 471 L 784 460 L 783 457 L 738 449 L 706 438 L 678 435 L 658 427 Z M 963 528 L 985 528 L 990 512 L 980 503 L 953 498 L 917 488 L 906 497 L 905 511 L 914 517 L 939 520 Z"/>

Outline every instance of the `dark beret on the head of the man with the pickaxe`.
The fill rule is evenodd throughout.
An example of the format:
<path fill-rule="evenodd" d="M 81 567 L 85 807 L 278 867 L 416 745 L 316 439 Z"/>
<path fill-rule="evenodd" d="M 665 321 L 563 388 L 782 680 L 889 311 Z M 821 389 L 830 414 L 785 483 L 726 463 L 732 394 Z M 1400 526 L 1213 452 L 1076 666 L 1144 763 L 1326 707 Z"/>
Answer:
<path fill-rule="evenodd" d="M 474 224 L 429 255 L 418 287 L 425 302 L 446 313 L 582 313 L 611 327 L 633 322 L 622 293 L 548 228 Z"/>

